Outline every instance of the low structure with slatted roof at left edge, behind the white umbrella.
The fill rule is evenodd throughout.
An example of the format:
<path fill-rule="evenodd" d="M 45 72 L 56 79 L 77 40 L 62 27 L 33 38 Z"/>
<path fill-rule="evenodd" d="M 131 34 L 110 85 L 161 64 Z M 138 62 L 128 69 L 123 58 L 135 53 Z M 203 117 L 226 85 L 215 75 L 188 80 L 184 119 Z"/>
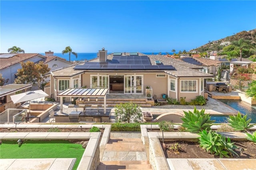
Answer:
<path fill-rule="evenodd" d="M 8 84 L 0 86 L 0 113 L 6 109 L 14 109 L 20 106 L 20 103 L 13 104 L 11 95 L 15 95 L 16 92 L 26 90 L 32 87 L 31 84 Z"/>

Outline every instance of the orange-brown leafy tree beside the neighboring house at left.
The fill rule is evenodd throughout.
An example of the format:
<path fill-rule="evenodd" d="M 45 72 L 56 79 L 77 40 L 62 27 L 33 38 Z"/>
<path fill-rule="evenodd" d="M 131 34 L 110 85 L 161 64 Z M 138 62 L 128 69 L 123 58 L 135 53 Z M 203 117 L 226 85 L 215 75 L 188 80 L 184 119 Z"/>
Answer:
<path fill-rule="evenodd" d="M 15 83 L 38 83 L 38 88 L 40 89 L 40 82 L 44 81 L 49 75 L 46 75 L 51 69 L 48 68 L 48 64 L 44 64 L 42 61 L 35 64 L 32 61 L 27 61 L 26 63 L 21 62 L 21 69 L 17 70 Z"/>

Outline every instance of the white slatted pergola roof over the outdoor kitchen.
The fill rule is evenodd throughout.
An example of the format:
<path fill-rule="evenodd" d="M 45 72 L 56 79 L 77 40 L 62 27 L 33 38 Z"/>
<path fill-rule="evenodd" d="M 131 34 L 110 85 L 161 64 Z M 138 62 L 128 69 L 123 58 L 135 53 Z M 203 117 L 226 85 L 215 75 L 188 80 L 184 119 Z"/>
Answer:
<path fill-rule="evenodd" d="M 57 94 L 57 97 L 104 97 L 108 88 L 68 88 Z"/>

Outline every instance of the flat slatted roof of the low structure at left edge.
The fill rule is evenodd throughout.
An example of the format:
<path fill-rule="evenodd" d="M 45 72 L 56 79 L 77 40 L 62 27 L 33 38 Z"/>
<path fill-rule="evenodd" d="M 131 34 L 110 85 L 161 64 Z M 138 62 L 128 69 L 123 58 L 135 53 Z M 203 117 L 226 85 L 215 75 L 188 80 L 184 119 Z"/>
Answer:
<path fill-rule="evenodd" d="M 16 91 L 20 91 L 28 87 L 32 87 L 32 84 L 8 84 L 0 86 L 0 97 L 10 95 Z"/>

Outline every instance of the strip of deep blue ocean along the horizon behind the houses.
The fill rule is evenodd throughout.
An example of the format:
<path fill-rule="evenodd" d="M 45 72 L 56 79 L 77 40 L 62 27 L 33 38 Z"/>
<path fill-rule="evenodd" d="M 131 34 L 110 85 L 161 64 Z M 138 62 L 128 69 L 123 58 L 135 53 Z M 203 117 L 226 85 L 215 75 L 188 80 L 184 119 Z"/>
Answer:
<path fill-rule="evenodd" d="M 158 53 L 159 52 L 155 52 L 154 54 L 158 54 Z M 45 53 L 40 53 L 40 54 L 45 55 Z M 90 60 L 90 59 L 97 57 L 97 53 L 77 53 L 77 54 L 78 54 L 77 58 L 76 58 L 76 56 L 71 54 L 70 61 L 85 61 L 85 60 Z M 150 55 L 150 54 L 152 54 L 152 52 L 144 52 L 144 54 Z M 165 55 L 166 53 L 162 53 L 162 54 Z M 172 54 L 172 53 L 170 53 L 170 54 Z M 62 55 L 62 53 L 54 53 L 54 55 L 56 55 L 58 57 L 62 57 L 64 59 L 66 59 L 67 61 L 69 60 L 68 53 L 66 53 L 64 55 Z"/>

